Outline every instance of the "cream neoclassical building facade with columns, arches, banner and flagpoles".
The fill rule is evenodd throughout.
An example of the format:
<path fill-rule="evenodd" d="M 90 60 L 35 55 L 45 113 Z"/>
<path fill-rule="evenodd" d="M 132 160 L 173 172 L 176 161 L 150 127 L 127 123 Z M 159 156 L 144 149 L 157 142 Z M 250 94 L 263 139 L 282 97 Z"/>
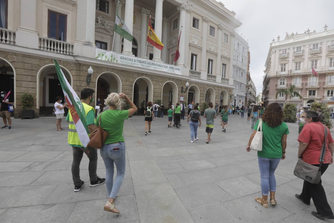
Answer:
<path fill-rule="evenodd" d="M 6 7 L 0 9 L 0 88 L 12 90 L 15 117 L 23 93 L 34 97 L 36 117 L 49 115 L 55 97 L 63 96 L 53 59 L 78 95 L 88 87 L 102 101 L 123 92 L 138 107 L 158 99 L 232 103 L 234 29 L 241 23 L 220 2 L 120 0 L 117 7 L 114 0 L 0 1 Z M 114 33 L 117 13 L 132 42 Z M 150 15 L 163 50 L 146 43 Z"/>

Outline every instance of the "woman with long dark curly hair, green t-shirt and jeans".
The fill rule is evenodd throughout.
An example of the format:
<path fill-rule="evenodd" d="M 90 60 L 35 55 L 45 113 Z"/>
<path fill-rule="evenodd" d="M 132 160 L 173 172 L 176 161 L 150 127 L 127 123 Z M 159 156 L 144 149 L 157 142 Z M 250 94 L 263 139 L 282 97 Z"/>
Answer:
<path fill-rule="evenodd" d="M 263 207 L 268 208 L 268 194 L 270 192 L 270 203 L 276 205 L 276 179 L 275 170 L 281 159 L 285 159 L 287 147 L 288 125 L 283 122 L 283 110 L 278 103 L 268 105 L 262 115 L 262 151 L 258 151 L 259 169 L 261 175 L 262 198 L 255 200 Z M 254 126 L 254 132 L 249 138 L 246 147 L 247 152 L 251 151 L 251 143 L 257 132 L 259 121 Z"/>

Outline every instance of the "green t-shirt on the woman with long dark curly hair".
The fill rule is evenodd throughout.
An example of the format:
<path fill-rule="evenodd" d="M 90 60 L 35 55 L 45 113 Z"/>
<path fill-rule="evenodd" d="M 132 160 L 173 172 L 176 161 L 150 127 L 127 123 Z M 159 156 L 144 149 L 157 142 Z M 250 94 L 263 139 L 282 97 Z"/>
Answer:
<path fill-rule="evenodd" d="M 254 126 L 254 129 L 258 129 L 259 121 Z M 281 158 L 282 136 L 289 134 L 287 123 L 282 122 L 278 126 L 270 127 L 266 122 L 262 122 L 262 132 L 262 151 L 258 151 L 258 156 L 269 159 Z"/>

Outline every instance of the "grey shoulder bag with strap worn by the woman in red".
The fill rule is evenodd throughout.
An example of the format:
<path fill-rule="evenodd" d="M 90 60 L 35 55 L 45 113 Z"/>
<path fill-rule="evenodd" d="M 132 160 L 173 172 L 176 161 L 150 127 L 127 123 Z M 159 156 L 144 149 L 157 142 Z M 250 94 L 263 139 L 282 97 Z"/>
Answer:
<path fill-rule="evenodd" d="M 314 166 L 312 164 L 304 162 L 303 159 L 300 157 L 293 172 L 296 177 L 299 177 L 300 179 L 303 179 L 304 181 L 307 181 L 311 184 L 318 184 L 321 180 L 321 163 L 323 163 L 325 159 L 326 137 L 327 137 L 327 127 L 325 125 L 324 127 L 325 127 L 325 141 L 324 144 L 322 145 L 319 157 L 320 166 Z"/>

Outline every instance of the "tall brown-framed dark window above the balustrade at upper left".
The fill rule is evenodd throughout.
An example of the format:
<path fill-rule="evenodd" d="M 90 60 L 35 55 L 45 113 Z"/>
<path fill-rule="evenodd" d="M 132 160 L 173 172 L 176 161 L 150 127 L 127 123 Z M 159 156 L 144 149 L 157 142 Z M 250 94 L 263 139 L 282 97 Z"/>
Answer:
<path fill-rule="evenodd" d="M 66 41 L 67 16 L 48 10 L 48 38 Z"/>

